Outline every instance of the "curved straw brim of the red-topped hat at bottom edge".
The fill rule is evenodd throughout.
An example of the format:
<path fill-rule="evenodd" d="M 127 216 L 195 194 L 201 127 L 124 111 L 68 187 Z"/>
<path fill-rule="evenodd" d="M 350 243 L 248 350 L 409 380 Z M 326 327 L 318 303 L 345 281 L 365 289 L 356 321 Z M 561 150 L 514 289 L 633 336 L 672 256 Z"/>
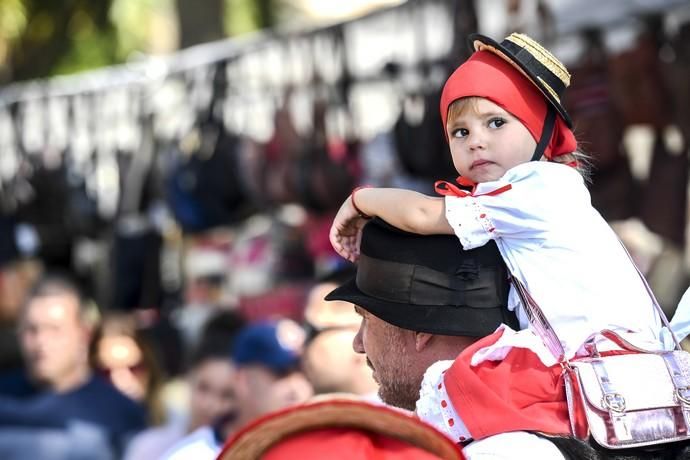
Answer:
<path fill-rule="evenodd" d="M 405 441 L 447 460 L 462 454 L 444 434 L 400 410 L 354 398 L 320 398 L 266 415 L 228 440 L 218 460 L 255 460 L 292 435 L 323 428 L 353 428 Z"/>

